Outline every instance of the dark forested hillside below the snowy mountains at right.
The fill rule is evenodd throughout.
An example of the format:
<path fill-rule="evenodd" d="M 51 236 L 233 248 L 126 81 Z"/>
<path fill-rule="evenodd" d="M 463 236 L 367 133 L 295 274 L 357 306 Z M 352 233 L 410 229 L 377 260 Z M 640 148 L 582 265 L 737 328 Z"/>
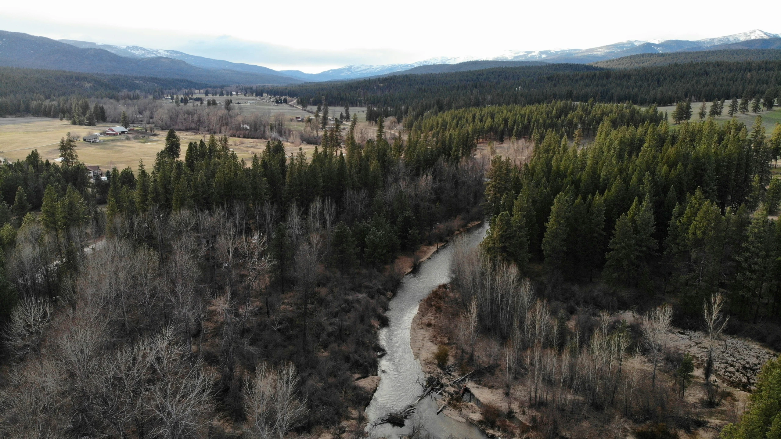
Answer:
<path fill-rule="evenodd" d="M 553 100 L 670 105 L 683 99 L 711 101 L 764 95 L 781 84 L 781 61 L 691 62 L 631 70 L 580 64 L 497 68 L 471 72 L 398 75 L 341 83 L 272 87 L 310 105 L 369 105 L 377 116 L 407 118 L 449 109 L 526 105 Z M 408 125 L 409 127 L 410 125 Z"/>

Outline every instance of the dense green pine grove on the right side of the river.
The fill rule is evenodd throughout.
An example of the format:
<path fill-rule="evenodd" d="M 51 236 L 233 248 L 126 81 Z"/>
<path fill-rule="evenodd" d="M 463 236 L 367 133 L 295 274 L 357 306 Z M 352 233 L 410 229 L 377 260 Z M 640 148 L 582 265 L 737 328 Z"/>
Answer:
<path fill-rule="evenodd" d="M 599 107 L 568 105 L 576 114 Z M 537 106 L 540 114 L 566 114 L 546 106 Z M 670 129 L 654 110 L 604 108 L 612 111 L 596 130 L 573 126 L 583 126 L 575 141 L 561 120 L 538 125 L 528 163 L 494 158 L 485 195 L 487 254 L 526 273 L 535 273 L 530 261 L 541 263 L 554 283 L 592 280 L 601 271 L 619 289 L 676 294 L 690 316 L 718 291 L 729 292 L 730 311 L 742 319 L 779 316 L 781 222 L 768 215 L 779 209 L 781 186 L 770 166 L 781 129 L 768 139 L 760 118 L 754 127 L 705 120 Z M 486 112 L 511 110 L 455 110 L 420 125 L 458 115 L 473 123 L 446 132 L 477 129 Z M 593 141 L 581 146 L 586 132 Z"/>

